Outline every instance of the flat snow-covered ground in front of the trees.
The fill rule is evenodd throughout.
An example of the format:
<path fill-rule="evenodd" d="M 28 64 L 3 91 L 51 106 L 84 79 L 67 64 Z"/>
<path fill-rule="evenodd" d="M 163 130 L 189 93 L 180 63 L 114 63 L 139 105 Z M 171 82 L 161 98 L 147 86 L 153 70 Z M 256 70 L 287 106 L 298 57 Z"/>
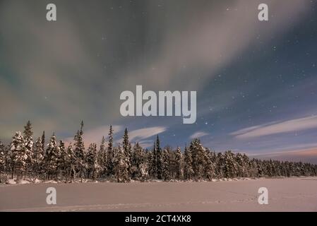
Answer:
<path fill-rule="evenodd" d="M 50 186 L 53 206 L 46 203 Z M 268 205 L 258 204 L 260 187 L 268 188 Z M 317 211 L 317 178 L 0 184 L 0 211 Z"/>

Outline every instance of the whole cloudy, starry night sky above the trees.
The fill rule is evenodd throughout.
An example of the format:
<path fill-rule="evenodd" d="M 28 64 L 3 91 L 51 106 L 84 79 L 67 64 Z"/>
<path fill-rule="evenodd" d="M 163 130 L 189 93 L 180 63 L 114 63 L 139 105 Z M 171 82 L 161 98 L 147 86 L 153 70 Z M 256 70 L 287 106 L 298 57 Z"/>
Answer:
<path fill-rule="evenodd" d="M 317 162 L 317 1 L 0 0 L 0 138 L 30 119 L 85 145 L 131 141 Z M 258 4 L 269 20 L 258 20 Z M 197 91 L 196 124 L 121 117 L 124 90 Z"/>

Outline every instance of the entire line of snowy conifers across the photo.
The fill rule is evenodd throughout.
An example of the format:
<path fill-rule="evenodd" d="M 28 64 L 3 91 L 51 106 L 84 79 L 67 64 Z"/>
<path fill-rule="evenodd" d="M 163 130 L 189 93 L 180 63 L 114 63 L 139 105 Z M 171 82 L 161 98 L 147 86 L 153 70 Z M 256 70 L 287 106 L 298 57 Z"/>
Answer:
<path fill-rule="evenodd" d="M 131 179 L 212 180 L 241 177 L 299 177 L 316 176 L 317 165 L 302 162 L 280 162 L 277 160 L 250 159 L 245 154 L 215 153 L 204 148 L 198 138 L 188 147 L 161 148 L 157 136 L 152 150 L 142 148 L 139 143 L 132 146 L 128 130 L 123 142 L 114 147 L 113 129 L 110 126 L 107 143 L 102 137 L 99 147 L 95 143 L 85 150 L 83 121 L 68 147 L 56 136 L 45 145 L 45 133 L 32 139 L 32 125 L 26 124 L 23 133 L 16 132 L 9 145 L 0 141 L 0 180 L 4 179 L 55 179 L 73 182 L 75 179 L 109 179 L 130 182 Z M 1 182 L 1 181 L 0 181 Z"/>

